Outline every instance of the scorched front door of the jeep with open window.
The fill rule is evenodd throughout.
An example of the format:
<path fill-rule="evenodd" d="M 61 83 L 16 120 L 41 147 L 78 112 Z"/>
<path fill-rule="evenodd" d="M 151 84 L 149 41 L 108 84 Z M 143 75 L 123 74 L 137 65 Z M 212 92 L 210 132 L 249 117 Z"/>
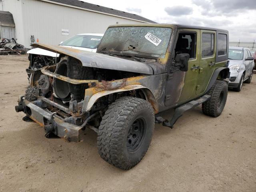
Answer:
<path fill-rule="evenodd" d="M 180 70 L 172 72 L 166 84 L 165 105 L 179 104 L 185 100 L 195 97 L 195 86 L 199 68 L 199 46 L 200 30 L 182 29 L 178 31 L 177 42 L 172 50 L 175 52 L 173 60 L 177 54 L 188 53 L 188 71 Z"/>

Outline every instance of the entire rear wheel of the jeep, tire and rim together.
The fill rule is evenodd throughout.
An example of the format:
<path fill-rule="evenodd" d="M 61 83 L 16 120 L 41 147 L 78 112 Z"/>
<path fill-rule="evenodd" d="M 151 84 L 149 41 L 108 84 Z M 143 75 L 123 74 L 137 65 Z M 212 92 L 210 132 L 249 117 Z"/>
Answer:
<path fill-rule="evenodd" d="M 226 104 L 228 85 L 224 81 L 216 80 L 207 94 L 211 98 L 202 104 L 202 111 L 208 116 L 218 117 Z"/>

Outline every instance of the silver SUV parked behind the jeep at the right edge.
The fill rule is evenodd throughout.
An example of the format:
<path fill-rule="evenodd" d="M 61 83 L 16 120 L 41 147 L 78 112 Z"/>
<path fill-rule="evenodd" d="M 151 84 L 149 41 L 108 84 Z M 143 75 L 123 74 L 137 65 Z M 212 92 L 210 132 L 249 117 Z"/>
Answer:
<path fill-rule="evenodd" d="M 252 54 L 248 48 L 229 47 L 228 60 L 230 69 L 228 87 L 239 92 L 243 82 L 250 83 L 252 80 L 252 70 L 254 68 Z"/>

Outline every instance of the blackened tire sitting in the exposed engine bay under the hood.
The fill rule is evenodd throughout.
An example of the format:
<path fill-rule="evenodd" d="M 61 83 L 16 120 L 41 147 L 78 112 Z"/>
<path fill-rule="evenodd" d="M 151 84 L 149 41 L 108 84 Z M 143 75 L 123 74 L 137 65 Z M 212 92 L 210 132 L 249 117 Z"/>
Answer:
<path fill-rule="evenodd" d="M 84 67 L 74 58 L 68 59 L 67 76 L 76 80 L 94 79 L 92 68 Z M 84 99 L 84 90 L 88 88 L 88 84 L 68 84 L 70 93 L 74 96 L 74 100 Z"/>

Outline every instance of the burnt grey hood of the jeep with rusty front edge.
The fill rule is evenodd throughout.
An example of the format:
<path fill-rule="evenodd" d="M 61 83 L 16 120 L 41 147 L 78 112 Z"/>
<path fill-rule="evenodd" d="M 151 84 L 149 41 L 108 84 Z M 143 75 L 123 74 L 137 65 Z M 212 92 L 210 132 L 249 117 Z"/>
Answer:
<path fill-rule="evenodd" d="M 142 74 L 154 74 L 152 67 L 142 62 L 122 59 L 100 53 L 88 52 L 84 50 L 78 50 L 63 46 L 45 44 L 32 44 L 31 46 L 36 48 L 42 48 L 44 50 L 48 50 L 56 54 L 65 54 L 74 57 L 80 60 L 82 65 L 85 67 L 112 69 Z"/>

